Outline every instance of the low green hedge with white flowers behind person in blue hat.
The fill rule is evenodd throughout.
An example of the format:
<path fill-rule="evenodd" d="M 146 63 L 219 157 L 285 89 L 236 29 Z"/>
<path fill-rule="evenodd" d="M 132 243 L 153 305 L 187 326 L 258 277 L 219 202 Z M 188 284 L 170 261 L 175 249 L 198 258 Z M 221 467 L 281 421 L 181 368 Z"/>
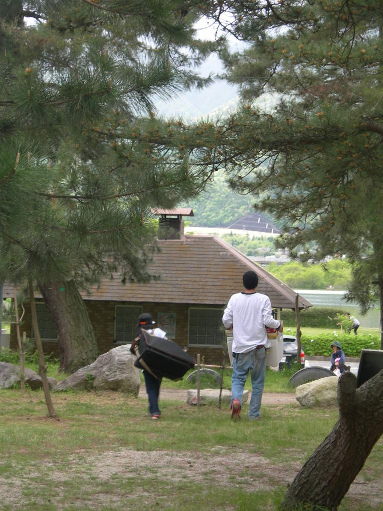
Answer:
<path fill-rule="evenodd" d="M 315 337 L 301 336 L 306 356 L 331 356 L 331 343 L 340 342 L 346 357 L 360 357 L 362 349 L 380 350 L 380 337 L 378 335 L 353 335 L 353 334 L 320 334 Z"/>

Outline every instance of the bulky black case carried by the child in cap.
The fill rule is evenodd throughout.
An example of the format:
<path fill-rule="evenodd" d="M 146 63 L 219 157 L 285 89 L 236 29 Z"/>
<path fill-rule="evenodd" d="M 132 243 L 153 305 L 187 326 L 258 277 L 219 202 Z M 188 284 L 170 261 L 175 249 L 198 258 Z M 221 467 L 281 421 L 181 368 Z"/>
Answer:
<path fill-rule="evenodd" d="M 194 358 L 174 341 L 161 339 L 141 330 L 131 347 L 140 369 L 149 369 L 156 378 L 178 380 L 195 366 Z"/>

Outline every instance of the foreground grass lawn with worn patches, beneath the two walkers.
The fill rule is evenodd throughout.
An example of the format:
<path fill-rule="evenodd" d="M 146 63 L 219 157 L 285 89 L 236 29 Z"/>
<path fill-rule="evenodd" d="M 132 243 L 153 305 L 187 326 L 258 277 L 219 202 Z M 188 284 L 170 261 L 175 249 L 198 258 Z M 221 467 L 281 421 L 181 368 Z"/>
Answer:
<path fill-rule="evenodd" d="M 226 408 L 162 400 L 152 421 L 146 399 L 119 392 L 52 398 L 59 422 L 46 419 L 42 391 L 0 389 L 2 511 L 277 510 L 338 418 L 297 403 L 232 423 Z M 382 509 L 382 480 L 380 440 L 340 509 Z"/>

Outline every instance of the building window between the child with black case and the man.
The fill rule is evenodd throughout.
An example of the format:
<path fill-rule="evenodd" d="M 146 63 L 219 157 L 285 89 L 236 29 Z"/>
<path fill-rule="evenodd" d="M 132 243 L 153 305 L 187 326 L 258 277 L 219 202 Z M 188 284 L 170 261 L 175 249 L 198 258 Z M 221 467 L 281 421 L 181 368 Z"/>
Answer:
<path fill-rule="evenodd" d="M 222 346 L 225 327 L 223 309 L 189 309 L 189 345 Z"/>

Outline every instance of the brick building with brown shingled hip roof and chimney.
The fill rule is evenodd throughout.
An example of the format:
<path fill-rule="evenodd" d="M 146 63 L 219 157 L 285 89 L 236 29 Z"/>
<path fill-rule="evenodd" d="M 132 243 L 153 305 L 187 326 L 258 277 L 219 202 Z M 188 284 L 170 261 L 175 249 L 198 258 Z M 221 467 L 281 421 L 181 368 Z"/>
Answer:
<path fill-rule="evenodd" d="M 168 211 L 162 218 L 171 214 Z M 174 222 L 171 225 L 175 227 Z M 182 227 L 181 222 L 179 226 Z M 99 285 L 90 286 L 87 292 L 80 291 L 101 353 L 132 342 L 138 315 L 149 312 L 157 326 L 193 356 L 200 354 L 205 363 L 221 364 L 222 346 L 226 344 L 223 311 L 230 296 L 243 290 L 242 275 L 248 270 L 258 274 L 257 291 L 270 297 L 276 317 L 283 319 L 283 309 L 295 309 L 296 293 L 289 286 L 218 237 L 184 236 L 181 228 L 177 239 L 159 240 L 158 245 L 159 251 L 148 265 L 148 271 L 158 277 L 156 280 L 130 283 L 116 272 L 112 278 L 105 276 Z M 13 297 L 12 286 L 4 286 L 4 297 Z M 57 353 L 57 335 L 46 338 L 54 336 L 55 330 L 47 325 L 41 295 L 36 294 L 36 301 L 39 314 L 45 318 L 46 333 L 41 332 L 44 350 Z M 301 296 L 298 305 L 299 309 L 311 306 Z M 23 328 L 29 336 L 30 313 L 27 304 L 25 307 Z M 17 345 L 14 330 L 11 347 Z"/>

